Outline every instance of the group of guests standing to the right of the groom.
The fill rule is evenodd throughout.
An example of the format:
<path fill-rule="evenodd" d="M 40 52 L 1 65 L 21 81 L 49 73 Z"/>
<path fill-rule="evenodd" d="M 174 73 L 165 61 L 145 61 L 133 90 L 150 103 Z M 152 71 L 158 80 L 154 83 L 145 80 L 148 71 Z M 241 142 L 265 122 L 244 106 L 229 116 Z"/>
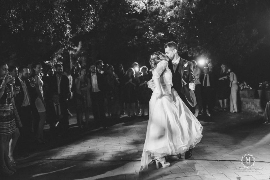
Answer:
<path fill-rule="evenodd" d="M 195 78 L 195 96 L 197 100 L 198 115 L 211 116 L 218 100 L 221 111 L 237 113 L 238 81 L 236 74 L 226 64 L 222 64 L 220 72 L 215 71 L 213 64 L 200 69 L 196 61 L 193 64 Z M 228 104 L 230 99 L 230 104 Z M 195 107 L 192 109 L 195 113 Z"/>

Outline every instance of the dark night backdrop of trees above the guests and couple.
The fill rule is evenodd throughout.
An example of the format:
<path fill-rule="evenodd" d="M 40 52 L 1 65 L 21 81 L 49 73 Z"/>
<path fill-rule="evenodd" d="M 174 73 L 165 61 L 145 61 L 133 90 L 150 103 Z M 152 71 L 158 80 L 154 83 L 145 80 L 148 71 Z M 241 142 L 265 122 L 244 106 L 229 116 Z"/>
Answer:
<path fill-rule="evenodd" d="M 1 1 L 0 57 L 9 65 L 88 62 L 148 66 L 168 41 L 184 59 L 221 63 L 253 88 L 270 80 L 268 0 Z"/>

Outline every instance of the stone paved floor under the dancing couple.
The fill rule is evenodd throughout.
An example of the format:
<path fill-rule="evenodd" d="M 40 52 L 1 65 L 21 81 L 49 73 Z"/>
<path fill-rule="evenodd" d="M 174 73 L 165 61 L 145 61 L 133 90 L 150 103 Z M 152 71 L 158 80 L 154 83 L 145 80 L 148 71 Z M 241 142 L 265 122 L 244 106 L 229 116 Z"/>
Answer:
<path fill-rule="evenodd" d="M 270 126 L 257 116 L 216 112 L 214 122 L 200 121 L 203 138 L 190 160 L 171 161 L 164 169 L 150 164 L 146 172 L 140 159 L 148 121 L 122 120 L 108 130 L 79 132 L 73 125 L 74 136 L 58 137 L 18 159 L 16 174 L 5 179 L 269 179 Z M 236 170 L 245 154 L 254 156 L 253 168 L 260 170 Z"/>

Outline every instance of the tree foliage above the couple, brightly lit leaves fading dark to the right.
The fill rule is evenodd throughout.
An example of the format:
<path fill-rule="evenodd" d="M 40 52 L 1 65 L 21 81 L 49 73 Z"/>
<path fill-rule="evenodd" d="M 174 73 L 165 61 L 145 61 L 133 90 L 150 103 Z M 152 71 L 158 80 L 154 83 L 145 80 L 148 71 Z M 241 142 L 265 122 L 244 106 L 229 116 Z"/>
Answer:
<path fill-rule="evenodd" d="M 173 40 L 181 54 L 239 64 L 269 37 L 269 7 L 259 0 L 148 1 L 147 16 L 130 44 L 152 51 Z"/>

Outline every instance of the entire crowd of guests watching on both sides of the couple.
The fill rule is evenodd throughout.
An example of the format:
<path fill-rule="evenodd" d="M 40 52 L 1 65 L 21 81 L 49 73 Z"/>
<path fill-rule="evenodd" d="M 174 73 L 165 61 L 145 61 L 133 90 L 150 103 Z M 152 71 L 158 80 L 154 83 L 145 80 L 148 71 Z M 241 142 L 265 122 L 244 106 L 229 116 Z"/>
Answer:
<path fill-rule="evenodd" d="M 212 63 L 200 69 L 196 61 L 191 62 L 199 115 L 211 116 L 216 97 L 222 111 L 230 98 L 230 112 L 238 112 L 236 74 L 225 64 L 217 73 Z M 19 155 L 25 155 L 31 143 L 47 142 L 45 122 L 52 137 L 68 133 L 70 101 L 75 104 L 80 130 L 107 129 L 108 119 L 124 114 L 148 116 L 152 90 L 147 82 L 152 73 L 146 66 L 134 62 L 124 71 L 122 64 L 114 67 L 101 60 L 90 64 L 81 60 L 70 71 L 63 72 L 61 64 L 42 71 L 41 63 L 16 67 L 0 61 L 0 172 L 4 175 L 16 172 L 15 147 Z M 195 107 L 191 110 L 195 113 Z M 94 116 L 91 123 L 90 113 Z"/>

